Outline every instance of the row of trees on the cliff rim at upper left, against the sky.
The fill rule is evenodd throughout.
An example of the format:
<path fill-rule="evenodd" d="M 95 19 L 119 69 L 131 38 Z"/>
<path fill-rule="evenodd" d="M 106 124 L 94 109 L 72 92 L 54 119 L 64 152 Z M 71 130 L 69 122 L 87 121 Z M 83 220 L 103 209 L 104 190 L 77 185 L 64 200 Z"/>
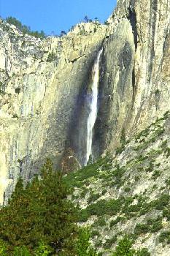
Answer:
<path fill-rule="evenodd" d="M 14 18 L 14 17 L 7 17 L 6 18 L 7 23 L 15 25 L 23 34 L 30 34 L 33 37 L 36 38 L 45 38 L 45 32 L 44 31 L 31 31 L 30 27 L 23 25 L 20 20 Z"/>

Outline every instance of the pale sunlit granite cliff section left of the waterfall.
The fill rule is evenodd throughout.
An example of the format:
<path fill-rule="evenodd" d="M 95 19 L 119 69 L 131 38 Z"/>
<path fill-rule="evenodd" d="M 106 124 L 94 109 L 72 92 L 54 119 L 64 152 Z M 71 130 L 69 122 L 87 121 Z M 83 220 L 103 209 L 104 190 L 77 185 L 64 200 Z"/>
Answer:
<path fill-rule="evenodd" d="M 46 157 L 61 167 L 65 149 L 70 146 L 76 152 L 79 149 L 85 129 L 80 114 L 88 77 L 106 26 L 80 24 L 66 37 L 43 41 L 24 37 L 2 20 L 0 27 L 0 202 L 3 203 L 4 189 L 7 195 L 18 175 L 28 180 Z M 82 134 L 78 129 L 82 129 Z"/>

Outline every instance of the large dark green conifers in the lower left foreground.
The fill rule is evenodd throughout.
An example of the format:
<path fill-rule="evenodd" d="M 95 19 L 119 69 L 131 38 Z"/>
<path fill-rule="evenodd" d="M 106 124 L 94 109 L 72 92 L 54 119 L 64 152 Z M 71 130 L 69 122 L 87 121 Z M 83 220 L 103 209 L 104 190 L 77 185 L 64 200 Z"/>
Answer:
<path fill-rule="evenodd" d="M 6 241 L 7 254 L 14 255 L 15 247 L 21 253 L 26 246 L 31 255 L 41 250 L 47 255 L 50 249 L 58 249 L 58 255 L 75 255 L 77 212 L 67 200 L 68 194 L 62 174 L 53 171 L 49 159 L 41 179 L 34 177 L 26 189 L 19 178 L 9 206 L 2 208 L 0 215 L 0 239 Z"/>

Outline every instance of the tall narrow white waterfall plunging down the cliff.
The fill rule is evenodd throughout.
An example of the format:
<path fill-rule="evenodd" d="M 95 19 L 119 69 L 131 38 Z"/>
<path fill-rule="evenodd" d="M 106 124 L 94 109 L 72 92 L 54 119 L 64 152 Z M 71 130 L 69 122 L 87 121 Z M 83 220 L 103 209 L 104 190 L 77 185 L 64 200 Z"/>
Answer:
<path fill-rule="evenodd" d="M 87 136 L 87 150 L 86 150 L 86 162 L 87 165 L 90 155 L 92 154 L 92 140 L 93 140 L 93 127 L 97 117 L 97 100 L 98 100 L 98 82 L 100 78 L 99 62 L 103 49 L 98 52 L 98 56 L 93 65 L 92 70 L 92 86 L 91 86 L 91 101 L 90 101 L 90 113 L 88 116 L 88 136 Z"/>

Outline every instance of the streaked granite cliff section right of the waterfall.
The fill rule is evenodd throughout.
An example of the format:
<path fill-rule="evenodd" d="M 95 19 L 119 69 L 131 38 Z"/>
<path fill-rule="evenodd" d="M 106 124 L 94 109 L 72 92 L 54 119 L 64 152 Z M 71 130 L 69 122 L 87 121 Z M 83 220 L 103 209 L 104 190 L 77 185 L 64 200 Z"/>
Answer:
<path fill-rule="evenodd" d="M 170 1 L 118 1 L 109 18 L 93 148 L 117 147 L 169 110 Z M 110 36 L 109 36 L 110 33 Z"/>

